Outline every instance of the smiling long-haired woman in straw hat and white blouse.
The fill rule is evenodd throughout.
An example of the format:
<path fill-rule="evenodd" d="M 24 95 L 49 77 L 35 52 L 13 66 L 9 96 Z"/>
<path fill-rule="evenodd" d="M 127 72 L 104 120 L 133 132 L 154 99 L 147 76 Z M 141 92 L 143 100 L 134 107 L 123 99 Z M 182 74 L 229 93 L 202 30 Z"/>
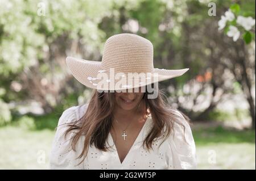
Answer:
<path fill-rule="evenodd" d="M 101 62 L 68 57 L 67 65 L 93 94 L 61 115 L 51 169 L 196 169 L 189 118 L 158 89 L 188 69 L 154 68 L 151 42 L 130 33 L 110 37 Z"/>

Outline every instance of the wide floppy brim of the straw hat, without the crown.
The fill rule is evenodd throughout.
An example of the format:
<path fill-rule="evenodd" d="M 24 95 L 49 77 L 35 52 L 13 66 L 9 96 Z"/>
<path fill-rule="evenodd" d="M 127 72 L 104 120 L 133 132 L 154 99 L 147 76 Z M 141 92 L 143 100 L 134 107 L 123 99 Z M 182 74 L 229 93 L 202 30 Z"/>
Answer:
<path fill-rule="evenodd" d="M 110 71 L 102 68 L 100 61 L 84 60 L 75 57 L 66 58 L 67 66 L 71 70 L 73 77 L 77 79 L 82 85 L 97 90 L 125 90 L 133 89 L 141 86 L 150 85 L 151 83 L 164 81 L 167 79 L 179 77 L 183 75 L 189 69 L 158 69 L 154 68 L 154 71 L 147 76 L 146 79 L 142 79 L 141 75 L 134 75 L 133 78 L 127 74 L 123 75 L 126 78 L 126 82 L 133 82 L 132 85 L 129 83 L 123 84 L 121 79 L 110 76 Z M 97 77 L 98 76 L 98 77 Z M 106 81 L 106 82 L 104 82 Z M 105 86 L 102 86 L 104 82 Z M 117 86 L 118 85 L 118 86 Z"/>

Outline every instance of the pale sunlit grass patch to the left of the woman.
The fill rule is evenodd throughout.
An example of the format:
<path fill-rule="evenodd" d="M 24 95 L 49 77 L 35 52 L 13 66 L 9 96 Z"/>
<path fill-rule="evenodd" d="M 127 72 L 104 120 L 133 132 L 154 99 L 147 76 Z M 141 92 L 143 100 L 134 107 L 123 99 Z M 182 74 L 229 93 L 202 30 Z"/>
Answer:
<path fill-rule="evenodd" d="M 53 136 L 49 130 L 0 128 L 0 169 L 48 169 Z"/>

